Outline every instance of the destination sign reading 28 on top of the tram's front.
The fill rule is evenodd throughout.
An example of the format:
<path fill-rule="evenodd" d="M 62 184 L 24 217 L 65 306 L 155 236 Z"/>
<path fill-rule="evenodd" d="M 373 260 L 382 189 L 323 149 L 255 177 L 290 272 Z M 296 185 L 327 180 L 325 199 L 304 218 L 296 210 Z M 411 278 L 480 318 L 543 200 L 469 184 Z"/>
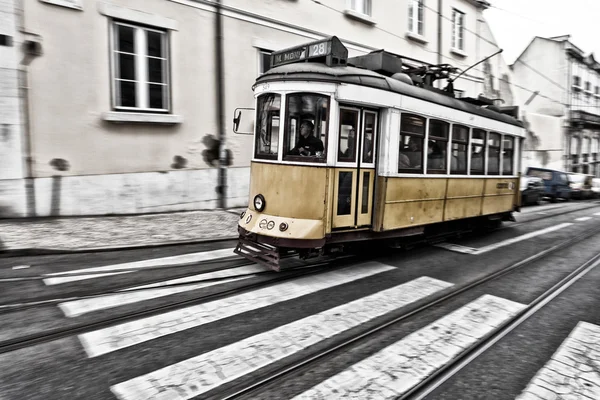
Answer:
<path fill-rule="evenodd" d="M 322 59 L 327 65 L 345 65 L 348 49 L 337 37 L 332 36 L 274 52 L 271 55 L 271 67 L 318 59 Z"/>

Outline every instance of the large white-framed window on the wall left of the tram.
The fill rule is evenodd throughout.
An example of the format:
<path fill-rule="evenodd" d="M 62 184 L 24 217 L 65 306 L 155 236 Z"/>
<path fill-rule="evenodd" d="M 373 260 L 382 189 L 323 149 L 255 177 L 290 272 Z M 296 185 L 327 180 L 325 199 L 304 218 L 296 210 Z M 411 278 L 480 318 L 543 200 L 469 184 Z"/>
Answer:
<path fill-rule="evenodd" d="M 122 111 L 169 111 L 167 32 L 112 23 L 113 107 Z"/>

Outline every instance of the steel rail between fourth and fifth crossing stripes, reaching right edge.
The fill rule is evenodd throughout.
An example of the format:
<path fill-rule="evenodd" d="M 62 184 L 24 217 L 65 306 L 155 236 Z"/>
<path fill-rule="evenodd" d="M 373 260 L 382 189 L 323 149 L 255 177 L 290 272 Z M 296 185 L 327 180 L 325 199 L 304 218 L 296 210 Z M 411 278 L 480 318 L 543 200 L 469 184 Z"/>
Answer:
<path fill-rule="evenodd" d="M 454 299 L 455 297 L 457 297 L 458 295 L 460 295 L 462 293 L 465 293 L 465 292 L 472 290 L 476 287 L 479 287 L 485 283 L 488 283 L 492 280 L 495 280 L 504 275 L 507 275 L 508 273 L 510 273 L 518 268 L 522 268 L 522 267 L 532 264 L 533 262 L 540 261 L 541 259 L 549 256 L 550 254 L 552 254 L 558 250 L 568 247 L 571 244 L 578 243 L 581 240 L 593 237 L 594 235 L 597 235 L 598 233 L 600 233 L 600 227 L 590 229 L 580 235 L 577 235 L 575 237 L 567 239 L 567 240 L 565 240 L 559 244 L 556 244 L 546 250 L 538 252 L 538 253 L 526 258 L 525 260 L 516 262 L 516 263 L 511 264 L 505 268 L 502 268 L 496 272 L 488 274 L 487 276 L 483 276 L 479 279 L 476 279 L 473 282 L 464 284 L 454 290 L 450 290 L 448 293 L 446 293 L 436 299 L 433 299 L 431 302 L 421 305 L 421 306 L 417 307 L 416 309 L 410 310 L 410 311 L 408 311 L 400 316 L 397 316 L 387 322 L 383 322 L 381 324 L 378 324 L 375 327 L 369 328 L 366 331 L 357 333 L 356 335 L 352 336 L 351 338 L 346 339 L 343 342 L 338 343 L 335 346 L 331 346 L 331 347 L 324 349 L 316 354 L 309 355 L 299 361 L 292 362 L 292 363 L 288 364 L 287 366 L 285 366 L 284 368 L 280 369 L 279 371 L 276 371 L 271 374 L 267 374 L 263 377 L 258 377 L 257 379 L 254 379 L 253 382 L 249 385 L 246 385 L 246 386 L 242 385 L 242 387 L 239 387 L 239 388 L 234 387 L 233 390 L 230 390 L 230 393 L 226 393 L 226 390 L 225 390 L 221 393 L 212 395 L 208 398 L 211 398 L 211 397 L 217 398 L 218 397 L 219 400 L 231 400 L 231 399 L 237 399 L 237 398 L 240 398 L 240 397 L 246 396 L 246 395 L 249 395 L 250 398 L 254 398 L 253 395 L 257 395 L 258 392 L 260 392 L 260 390 L 262 388 L 264 388 L 266 385 L 272 384 L 275 381 L 277 381 L 285 376 L 290 375 L 291 373 L 298 372 L 300 370 L 306 370 L 307 368 L 310 368 L 310 366 L 313 363 L 315 363 L 319 360 L 322 360 L 327 356 L 332 355 L 334 352 L 337 352 L 339 350 L 342 350 L 342 349 L 348 348 L 352 345 L 355 345 L 359 341 L 366 339 L 368 337 L 371 337 L 374 334 L 379 333 L 392 325 L 402 322 L 402 321 L 404 321 L 410 317 L 413 317 L 417 314 L 421 314 L 424 311 L 427 311 L 427 310 L 433 308 L 434 306 L 437 306 L 437 305 L 445 303 L 451 299 Z"/>

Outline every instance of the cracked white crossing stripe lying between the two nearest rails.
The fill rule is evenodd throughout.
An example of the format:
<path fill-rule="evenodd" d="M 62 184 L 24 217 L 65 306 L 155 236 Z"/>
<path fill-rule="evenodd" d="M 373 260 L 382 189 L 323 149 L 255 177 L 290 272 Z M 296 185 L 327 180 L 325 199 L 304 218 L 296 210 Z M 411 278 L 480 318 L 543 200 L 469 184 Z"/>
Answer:
<path fill-rule="evenodd" d="M 484 295 L 294 399 L 395 399 L 524 307 Z"/>

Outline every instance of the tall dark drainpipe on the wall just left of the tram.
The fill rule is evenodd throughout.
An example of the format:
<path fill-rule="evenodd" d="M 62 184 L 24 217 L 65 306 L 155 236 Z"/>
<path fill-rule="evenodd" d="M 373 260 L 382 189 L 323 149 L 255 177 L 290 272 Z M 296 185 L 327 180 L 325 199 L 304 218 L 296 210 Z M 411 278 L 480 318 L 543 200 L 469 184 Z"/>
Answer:
<path fill-rule="evenodd" d="M 215 21 L 215 58 L 216 58 L 216 93 L 217 93 L 217 125 L 219 140 L 219 184 L 217 193 L 219 194 L 219 208 L 226 208 L 227 200 L 227 151 L 225 149 L 225 91 L 223 88 L 223 21 L 221 15 L 221 0 L 216 0 L 216 21 Z"/>

